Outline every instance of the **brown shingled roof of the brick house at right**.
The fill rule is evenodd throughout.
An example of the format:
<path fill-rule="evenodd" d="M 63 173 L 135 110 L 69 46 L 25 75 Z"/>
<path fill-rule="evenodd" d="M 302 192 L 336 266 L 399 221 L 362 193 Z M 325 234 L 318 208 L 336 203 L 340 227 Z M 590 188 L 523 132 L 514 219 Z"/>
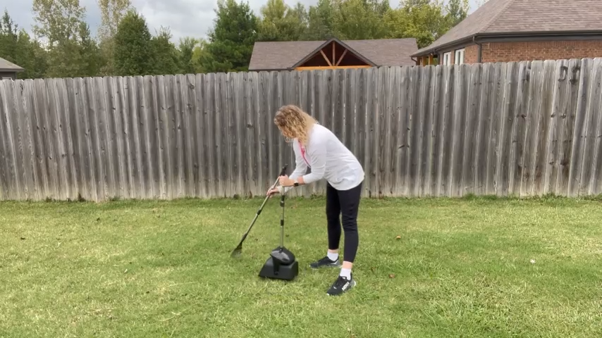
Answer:
<path fill-rule="evenodd" d="M 412 56 L 477 36 L 553 32 L 599 32 L 602 35 L 601 15 L 601 0 L 489 0 L 433 44 Z"/>

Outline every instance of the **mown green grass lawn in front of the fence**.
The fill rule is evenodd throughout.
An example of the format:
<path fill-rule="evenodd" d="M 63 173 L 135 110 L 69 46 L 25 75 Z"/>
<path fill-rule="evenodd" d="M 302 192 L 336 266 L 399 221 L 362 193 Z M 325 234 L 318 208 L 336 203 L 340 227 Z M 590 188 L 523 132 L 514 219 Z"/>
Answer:
<path fill-rule="evenodd" d="M 602 203 L 362 202 L 357 287 L 326 296 L 324 200 L 289 200 L 294 282 L 257 273 L 268 202 L 0 203 L 0 337 L 601 337 Z"/>

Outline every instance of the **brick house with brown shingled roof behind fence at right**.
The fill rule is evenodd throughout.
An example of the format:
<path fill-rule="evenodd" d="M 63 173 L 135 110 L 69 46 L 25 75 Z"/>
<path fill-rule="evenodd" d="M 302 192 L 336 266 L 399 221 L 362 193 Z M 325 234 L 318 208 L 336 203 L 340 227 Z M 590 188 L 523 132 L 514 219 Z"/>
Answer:
<path fill-rule="evenodd" d="M 602 0 L 489 0 L 412 59 L 449 65 L 598 56 Z"/>

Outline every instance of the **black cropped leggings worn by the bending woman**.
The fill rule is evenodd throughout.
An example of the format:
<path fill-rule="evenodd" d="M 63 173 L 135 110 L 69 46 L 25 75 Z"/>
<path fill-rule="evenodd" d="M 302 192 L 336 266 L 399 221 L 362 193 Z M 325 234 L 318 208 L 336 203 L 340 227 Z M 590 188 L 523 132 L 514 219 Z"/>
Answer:
<path fill-rule="evenodd" d="M 343 259 L 350 263 L 355 260 L 360 238 L 357 236 L 357 209 L 360 207 L 362 183 L 349 190 L 337 190 L 326 184 L 326 219 L 328 220 L 328 249 L 336 250 L 340 244 L 340 220 L 342 215 L 345 231 L 345 252 Z"/>

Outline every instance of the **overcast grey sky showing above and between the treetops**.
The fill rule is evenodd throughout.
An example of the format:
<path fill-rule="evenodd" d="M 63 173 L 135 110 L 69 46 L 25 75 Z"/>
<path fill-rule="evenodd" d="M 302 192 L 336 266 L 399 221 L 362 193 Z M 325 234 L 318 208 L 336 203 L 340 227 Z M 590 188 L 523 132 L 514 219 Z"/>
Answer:
<path fill-rule="evenodd" d="M 216 0 L 131 0 L 137 11 L 142 13 L 147 20 L 149 30 L 154 35 L 161 26 L 169 27 L 173 35 L 173 42 L 180 37 L 204 37 L 215 18 L 214 9 L 217 8 Z M 286 4 L 294 6 L 296 0 L 284 0 Z M 300 0 L 305 6 L 317 3 L 317 0 Z M 474 10 L 477 0 L 470 0 L 471 11 Z M 8 14 L 19 25 L 31 32 L 33 22 L 31 0 L 0 0 L 2 11 L 8 9 Z M 252 10 L 259 14 L 259 9 L 266 0 L 249 0 Z M 95 34 L 100 23 L 97 0 L 80 0 L 86 8 L 86 18 L 92 33 Z M 391 0 L 391 7 L 398 6 L 398 0 Z"/>

